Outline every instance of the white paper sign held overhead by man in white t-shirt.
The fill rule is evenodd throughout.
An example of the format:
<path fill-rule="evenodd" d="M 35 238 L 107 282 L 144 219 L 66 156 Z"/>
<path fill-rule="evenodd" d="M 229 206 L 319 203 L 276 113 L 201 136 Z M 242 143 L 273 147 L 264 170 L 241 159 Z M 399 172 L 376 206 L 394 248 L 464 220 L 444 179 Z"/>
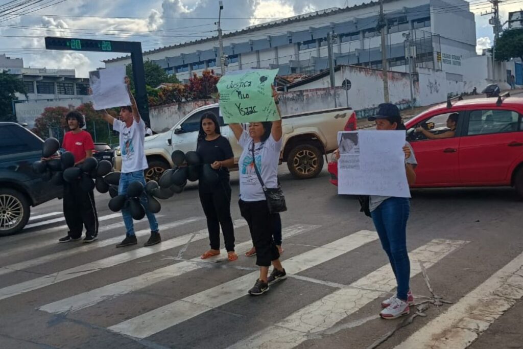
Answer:
<path fill-rule="evenodd" d="M 89 72 L 95 110 L 131 105 L 125 84 L 126 67 L 117 66 Z"/>

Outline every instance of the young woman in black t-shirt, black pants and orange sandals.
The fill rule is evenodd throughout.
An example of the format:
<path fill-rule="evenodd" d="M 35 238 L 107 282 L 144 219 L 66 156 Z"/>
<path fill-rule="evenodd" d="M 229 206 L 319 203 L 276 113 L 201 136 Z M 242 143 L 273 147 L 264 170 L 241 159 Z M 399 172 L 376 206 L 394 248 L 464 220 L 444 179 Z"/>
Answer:
<path fill-rule="evenodd" d="M 229 167 L 234 166 L 234 153 L 229 141 L 221 136 L 220 124 L 212 112 L 206 112 L 200 119 L 198 145 L 202 166 L 210 166 L 218 174 L 218 181 L 213 183 L 200 176 L 198 191 L 203 212 L 207 217 L 207 229 L 211 249 L 201 255 L 202 259 L 220 254 L 220 226 L 229 261 L 238 259 L 234 252 L 234 227 L 231 218 L 231 185 Z M 211 170 L 211 171 L 212 171 Z"/>

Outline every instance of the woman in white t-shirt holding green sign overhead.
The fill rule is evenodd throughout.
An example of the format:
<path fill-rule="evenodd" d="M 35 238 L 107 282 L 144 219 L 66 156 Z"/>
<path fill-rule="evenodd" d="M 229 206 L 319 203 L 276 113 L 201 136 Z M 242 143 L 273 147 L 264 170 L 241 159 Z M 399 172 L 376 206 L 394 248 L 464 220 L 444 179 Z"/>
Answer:
<path fill-rule="evenodd" d="M 274 91 L 274 98 L 277 93 Z M 279 114 L 279 110 L 278 110 Z M 263 185 L 278 187 L 278 162 L 282 144 L 281 115 L 276 121 L 251 122 L 248 132 L 240 123 L 230 123 L 231 130 L 243 148 L 240 156 L 240 212 L 245 218 L 256 249 L 256 264 L 260 276 L 249 294 L 264 294 L 269 285 L 285 279 L 287 274 L 280 263 L 280 254 L 272 239 L 272 227 Z M 269 266 L 274 269 L 269 274 Z"/>

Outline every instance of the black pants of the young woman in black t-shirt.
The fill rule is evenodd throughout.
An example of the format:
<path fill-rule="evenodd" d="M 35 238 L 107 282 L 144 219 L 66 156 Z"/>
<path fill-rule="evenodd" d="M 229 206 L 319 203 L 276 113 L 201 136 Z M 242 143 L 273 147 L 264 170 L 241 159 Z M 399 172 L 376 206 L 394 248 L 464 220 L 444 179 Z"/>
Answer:
<path fill-rule="evenodd" d="M 207 217 L 212 250 L 220 250 L 220 226 L 227 252 L 234 251 L 234 227 L 231 218 L 231 185 L 222 181 L 212 192 L 199 190 L 200 202 Z"/>

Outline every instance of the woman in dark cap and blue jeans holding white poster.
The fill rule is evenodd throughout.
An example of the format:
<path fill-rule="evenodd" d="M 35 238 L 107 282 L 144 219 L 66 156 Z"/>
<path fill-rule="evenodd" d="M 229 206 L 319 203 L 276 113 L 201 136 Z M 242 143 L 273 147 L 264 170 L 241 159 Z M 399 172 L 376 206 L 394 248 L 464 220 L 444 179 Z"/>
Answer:
<path fill-rule="evenodd" d="M 405 130 L 401 120 L 400 110 L 393 104 L 379 105 L 378 114 L 368 119 L 376 121 L 377 130 Z M 405 153 L 405 172 L 407 182 L 412 185 L 416 182 L 416 157 L 411 145 L 403 147 Z M 336 153 L 339 158 L 339 152 Z M 406 244 L 407 220 L 410 212 L 408 198 L 371 195 L 369 208 L 374 226 L 380 237 L 381 246 L 389 257 L 392 271 L 396 277 L 396 295 L 381 303 L 380 316 L 383 319 L 395 319 L 409 313 L 410 305 L 414 304 L 414 297 L 410 291 L 409 279 L 411 263 L 408 259 Z"/>

